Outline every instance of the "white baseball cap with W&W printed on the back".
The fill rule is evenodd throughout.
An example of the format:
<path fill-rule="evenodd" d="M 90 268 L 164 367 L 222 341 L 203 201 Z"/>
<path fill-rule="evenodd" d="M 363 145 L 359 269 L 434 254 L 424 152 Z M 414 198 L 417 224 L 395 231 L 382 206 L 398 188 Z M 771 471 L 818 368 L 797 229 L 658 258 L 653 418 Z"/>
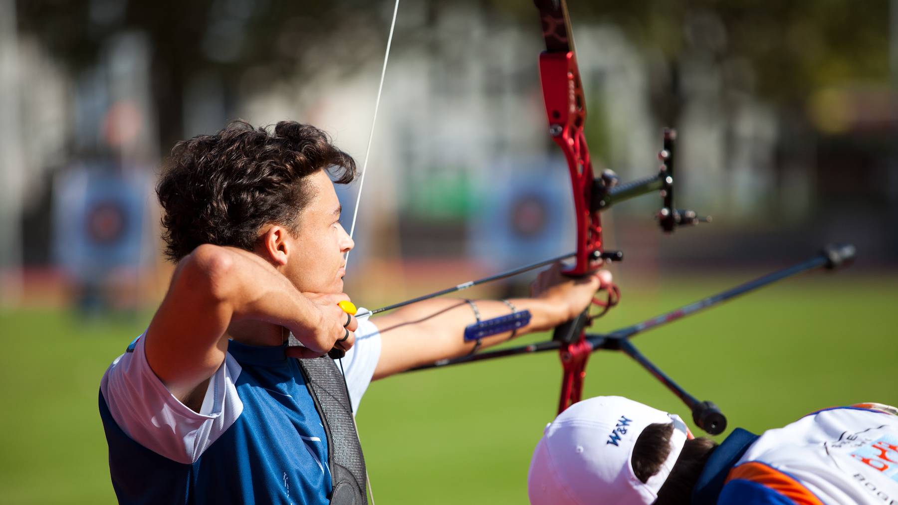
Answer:
<path fill-rule="evenodd" d="M 671 452 L 646 483 L 630 460 L 639 434 L 656 422 L 674 424 Z M 622 396 L 596 396 L 571 405 L 550 422 L 533 451 L 527 492 L 533 505 L 652 503 L 692 438 L 676 414 Z"/>

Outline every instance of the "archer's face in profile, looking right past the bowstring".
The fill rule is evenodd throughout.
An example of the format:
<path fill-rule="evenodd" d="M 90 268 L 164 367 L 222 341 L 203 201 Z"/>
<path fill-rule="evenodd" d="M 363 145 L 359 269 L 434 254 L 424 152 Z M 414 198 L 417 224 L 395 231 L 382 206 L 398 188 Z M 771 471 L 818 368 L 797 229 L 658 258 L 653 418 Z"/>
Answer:
<path fill-rule="evenodd" d="M 281 272 L 301 292 L 343 292 L 346 253 L 355 243 L 340 223 L 341 207 L 324 170 L 304 178 L 310 198 L 299 213 L 299 226 Z"/>

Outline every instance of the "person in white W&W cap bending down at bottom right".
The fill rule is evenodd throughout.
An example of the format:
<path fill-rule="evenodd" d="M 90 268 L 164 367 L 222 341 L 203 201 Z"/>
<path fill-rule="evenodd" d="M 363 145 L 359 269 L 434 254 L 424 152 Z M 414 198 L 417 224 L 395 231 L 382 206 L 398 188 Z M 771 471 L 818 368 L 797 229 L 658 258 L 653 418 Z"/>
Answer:
<path fill-rule="evenodd" d="M 527 491 L 533 505 L 898 505 L 898 409 L 828 408 L 718 445 L 675 414 L 597 396 L 545 428 Z"/>

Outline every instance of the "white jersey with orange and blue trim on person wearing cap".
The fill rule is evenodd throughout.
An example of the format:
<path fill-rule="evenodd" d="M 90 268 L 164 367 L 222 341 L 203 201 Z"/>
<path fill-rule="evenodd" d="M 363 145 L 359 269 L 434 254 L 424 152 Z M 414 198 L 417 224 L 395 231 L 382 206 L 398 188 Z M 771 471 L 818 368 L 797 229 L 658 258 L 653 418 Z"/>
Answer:
<path fill-rule="evenodd" d="M 705 505 L 898 505 L 898 411 L 858 404 L 808 414 L 761 436 L 736 429 L 692 495 Z"/>

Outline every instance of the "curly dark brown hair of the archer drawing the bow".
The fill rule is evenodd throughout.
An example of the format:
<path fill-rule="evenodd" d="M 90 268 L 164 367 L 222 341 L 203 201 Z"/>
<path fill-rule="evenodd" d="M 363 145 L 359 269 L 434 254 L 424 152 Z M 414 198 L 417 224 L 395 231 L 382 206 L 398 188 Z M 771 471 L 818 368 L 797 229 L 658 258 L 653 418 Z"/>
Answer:
<path fill-rule="evenodd" d="M 309 199 L 304 179 L 328 170 L 334 182 L 356 178 L 356 162 L 320 129 L 281 121 L 255 128 L 234 121 L 172 149 L 156 186 L 163 206 L 165 256 L 174 262 L 200 244 L 252 250 L 261 226 L 296 232 Z"/>

